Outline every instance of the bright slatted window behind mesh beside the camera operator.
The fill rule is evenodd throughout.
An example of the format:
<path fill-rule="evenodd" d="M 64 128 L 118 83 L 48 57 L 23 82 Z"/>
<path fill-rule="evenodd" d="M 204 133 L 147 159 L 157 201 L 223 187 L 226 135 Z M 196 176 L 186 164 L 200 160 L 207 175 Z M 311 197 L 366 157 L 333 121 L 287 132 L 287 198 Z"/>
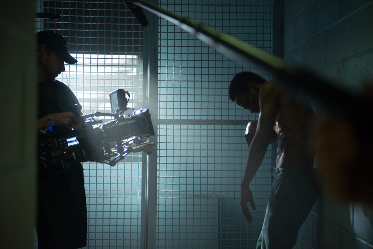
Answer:
<path fill-rule="evenodd" d="M 74 92 L 84 113 L 110 113 L 109 93 L 125 89 L 131 95 L 129 108 L 141 108 L 142 60 L 139 55 L 71 54 L 78 63 L 66 64 L 56 79 Z"/>

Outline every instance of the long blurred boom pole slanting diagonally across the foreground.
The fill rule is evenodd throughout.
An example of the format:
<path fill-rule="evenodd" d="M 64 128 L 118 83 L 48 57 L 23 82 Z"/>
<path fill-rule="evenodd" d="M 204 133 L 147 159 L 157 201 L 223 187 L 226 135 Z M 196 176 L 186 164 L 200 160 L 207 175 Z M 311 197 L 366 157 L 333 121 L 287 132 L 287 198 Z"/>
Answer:
<path fill-rule="evenodd" d="M 244 41 L 238 40 L 216 29 L 178 16 L 154 4 L 142 0 L 133 0 L 134 4 L 174 23 L 201 41 L 207 42 L 220 53 L 232 60 L 241 59 L 244 63 L 256 64 L 273 75 L 276 80 L 294 95 L 305 94 L 323 107 L 330 108 L 336 117 L 350 120 L 361 138 L 367 139 L 367 131 L 372 120 L 367 115 L 373 113 L 373 101 L 359 98 L 352 92 L 338 88 L 325 79 L 319 78 L 307 70 L 273 56 Z M 369 139 L 372 136 L 368 135 Z"/>

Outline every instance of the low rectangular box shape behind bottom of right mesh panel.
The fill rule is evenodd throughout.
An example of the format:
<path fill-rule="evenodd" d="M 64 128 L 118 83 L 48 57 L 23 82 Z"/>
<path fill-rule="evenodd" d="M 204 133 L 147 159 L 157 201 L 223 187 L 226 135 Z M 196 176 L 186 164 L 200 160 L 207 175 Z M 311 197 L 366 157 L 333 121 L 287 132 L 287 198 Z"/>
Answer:
<path fill-rule="evenodd" d="M 219 196 L 160 195 L 159 248 L 217 248 L 219 245 Z M 172 212 L 167 212 L 166 209 Z"/>

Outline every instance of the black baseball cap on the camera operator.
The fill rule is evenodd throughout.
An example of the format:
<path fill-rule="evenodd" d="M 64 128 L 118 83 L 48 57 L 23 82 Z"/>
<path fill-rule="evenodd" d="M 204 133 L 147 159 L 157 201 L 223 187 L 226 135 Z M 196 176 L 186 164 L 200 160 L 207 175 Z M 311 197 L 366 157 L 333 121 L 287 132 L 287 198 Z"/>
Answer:
<path fill-rule="evenodd" d="M 48 50 L 56 52 L 56 54 L 66 63 L 75 64 L 78 61 L 68 52 L 68 45 L 65 38 L 50 30 L 37 32 L 38 45 L 44 44 Z"/>

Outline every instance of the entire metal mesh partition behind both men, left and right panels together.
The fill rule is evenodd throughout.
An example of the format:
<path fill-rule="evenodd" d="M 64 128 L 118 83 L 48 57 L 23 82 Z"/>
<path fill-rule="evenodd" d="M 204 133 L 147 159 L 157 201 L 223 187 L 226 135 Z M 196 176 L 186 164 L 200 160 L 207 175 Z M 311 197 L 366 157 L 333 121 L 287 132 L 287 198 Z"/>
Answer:
<path fill-rule="evenodd" d="M 161 0 L 160 6 L 272 50 L 271 0 Z M 122 1 L 37 1 L 36 28 L 63 35 L 78 64 L 59 80 L 85 113 L 110 112 L 109 92 L 130 92 L 142 103 L 142 32 Z M 149 41 L 150 42 L 150 41 Z M 260 69 L 229 60 L 175 25 L 159 19 L 157 248 L 252 248 L 269 196 L 270 146 L 253 180 L 257 210 L 247 224 L 239 206 L 248 146 L 243 138 L 255 114 L 228 100 L 237 72 Z M 263 75 L 269 78 L 267 75 Z M 140 248 L 141 154 L 114 168 L 84 163 L 87 248 Z M 36 247 L 36 243 L 35 243 Z"/>

